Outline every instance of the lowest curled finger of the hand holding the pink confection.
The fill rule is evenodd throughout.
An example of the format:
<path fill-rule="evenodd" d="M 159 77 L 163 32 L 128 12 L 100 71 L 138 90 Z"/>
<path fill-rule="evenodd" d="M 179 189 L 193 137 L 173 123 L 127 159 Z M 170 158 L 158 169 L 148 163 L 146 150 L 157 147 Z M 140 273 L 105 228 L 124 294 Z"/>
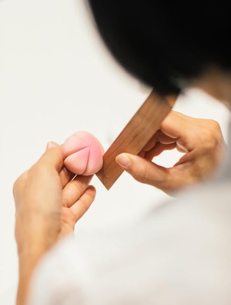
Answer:
<path fill-rule="evenodd" d="M 90 185 L 86 191 L 82 194 L 78 201 L 76 201 L 71 207 L 70 210 L 75 216 L 75 222 L 86 213 L 86 211 L 91 206 L 92 202 L 95 199 L 96 190 L 94 186 Z"/>

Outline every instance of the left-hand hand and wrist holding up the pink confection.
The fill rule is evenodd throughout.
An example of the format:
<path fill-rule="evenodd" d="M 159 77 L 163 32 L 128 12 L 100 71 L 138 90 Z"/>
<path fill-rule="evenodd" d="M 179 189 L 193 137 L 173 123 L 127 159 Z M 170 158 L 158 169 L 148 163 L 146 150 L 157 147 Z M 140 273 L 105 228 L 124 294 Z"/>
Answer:
<path fill-rule="evenodd" d="M 92 176 L 77 176 L 63 167 L 61 146 L 48 149 L 13 187 L 19 255 L 17 304 L 24 304 L 28 282 L 40 257 L 57 240 L 73 233 L 75 223 L 95 198 Z"/>

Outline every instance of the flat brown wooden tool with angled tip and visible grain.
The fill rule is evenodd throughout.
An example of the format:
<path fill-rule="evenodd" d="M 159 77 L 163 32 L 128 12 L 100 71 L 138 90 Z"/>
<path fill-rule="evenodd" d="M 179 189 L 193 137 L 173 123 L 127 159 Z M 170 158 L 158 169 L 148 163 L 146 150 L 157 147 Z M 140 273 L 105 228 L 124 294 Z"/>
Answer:
<path fill-rule="evenodd" d="M 104 164 L 96 173 L 98 179 L 108 190 L 123 172 L 115 161 L 116 156 L 121 153 L 138 155 L 171 111 L 176 98 L 177 96 L 163 98 L 152 91 L 108 148 L 103 156 Z"/>

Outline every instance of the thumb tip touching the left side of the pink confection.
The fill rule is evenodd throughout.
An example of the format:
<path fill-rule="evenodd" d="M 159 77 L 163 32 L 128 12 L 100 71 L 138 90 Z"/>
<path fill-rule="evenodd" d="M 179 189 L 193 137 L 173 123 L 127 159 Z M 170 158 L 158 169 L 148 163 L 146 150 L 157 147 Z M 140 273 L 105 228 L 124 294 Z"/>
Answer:
<path fill-rule="evenodd" d="M 47 144 L 47 150 L 37 163 L 44 164 L 46 168 L 55 169 L 59 172 L 63 167 L 61 146 L 55 142 L 49 142 Z"/>

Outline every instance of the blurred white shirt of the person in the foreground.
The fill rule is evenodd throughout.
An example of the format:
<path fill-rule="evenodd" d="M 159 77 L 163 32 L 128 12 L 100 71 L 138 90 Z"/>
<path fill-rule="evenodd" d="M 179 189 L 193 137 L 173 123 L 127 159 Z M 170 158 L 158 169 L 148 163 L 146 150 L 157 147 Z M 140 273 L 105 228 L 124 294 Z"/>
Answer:
<path fill-rule="evenodd" d="M 38 266 L 29 305 L 230 304 L 230 198 L 230 182 L 196 189 L 118 234 L 61 241 Z"/>

